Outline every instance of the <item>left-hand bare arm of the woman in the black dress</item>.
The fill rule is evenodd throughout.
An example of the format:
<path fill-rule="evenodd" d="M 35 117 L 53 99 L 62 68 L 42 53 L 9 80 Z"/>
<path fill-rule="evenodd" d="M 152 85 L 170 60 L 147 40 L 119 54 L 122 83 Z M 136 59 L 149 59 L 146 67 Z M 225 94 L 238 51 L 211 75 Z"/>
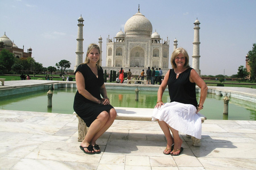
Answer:
<path fill-rule="evenodd" d="M 83 95 L 86 99 L 91 100 L 97 104 L 101 103 L 101 100 L 92 96 L 89 91 L 85 90 L 84 76 L 81 72 L 76 72 L 76 86 L 79 94 Z"/>

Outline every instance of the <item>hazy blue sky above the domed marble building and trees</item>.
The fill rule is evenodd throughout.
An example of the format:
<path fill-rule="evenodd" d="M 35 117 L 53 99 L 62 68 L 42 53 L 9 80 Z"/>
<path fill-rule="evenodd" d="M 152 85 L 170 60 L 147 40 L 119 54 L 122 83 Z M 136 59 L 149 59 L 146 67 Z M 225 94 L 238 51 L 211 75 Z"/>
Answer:
<path fill-rule="evenodd" d="M 33 49 L 33 57 L 44 67 L 76 57 L 77 19 L 84 18 L 84 53 L 90 43 L 98 44 L 101 36 L 102 66 L 106 66 L 106 43 L 138 11 L 153 25 L 164 40 L 169 37 L 170 55 L 173 40 L 187 49 L 192 65 L 194 22 L 200 24 L 201 74 L 237 74 L 245 66 L 245 56 L 256 43 L 255 0 L 190 1 L 64 1 L 0 0 L 0 36 L 4 35 L 19 48 Z M 171 67 L 171 64 L 169 64 Z"/>

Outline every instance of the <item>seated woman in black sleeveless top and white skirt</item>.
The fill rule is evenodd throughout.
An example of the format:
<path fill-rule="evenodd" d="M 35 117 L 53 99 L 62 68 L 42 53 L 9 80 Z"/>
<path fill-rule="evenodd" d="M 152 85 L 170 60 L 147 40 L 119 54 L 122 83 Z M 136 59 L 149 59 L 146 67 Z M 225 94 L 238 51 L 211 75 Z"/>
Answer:
<path fill-rule="evenodd" d="M 198 112 L 203 109 L 207 86 L 197 72 L 189 67 L 185 49 L 177 48 L 173 51 L 171 64 L 173 69 L 166 73 L 158 89 L 152 121 L 158 121 L 165 134 L 167 146 L 164 154 L 177 156 L 183 150 L 179 131 L 201 139 L 202 123 Z M 162 96 L 167 85 L 171 102 L 164 104 Z M 201 88 L 199 104 L 196 100 L 196 85 Z"/>

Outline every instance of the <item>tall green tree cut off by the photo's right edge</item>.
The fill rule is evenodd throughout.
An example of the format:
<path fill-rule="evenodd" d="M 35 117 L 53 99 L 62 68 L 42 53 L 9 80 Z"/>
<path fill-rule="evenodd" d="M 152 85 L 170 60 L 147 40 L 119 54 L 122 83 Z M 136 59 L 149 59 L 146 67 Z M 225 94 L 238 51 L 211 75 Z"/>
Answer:
<path fill-rule="evenodd" d="M 252 45 L 252 50 L 248 52 L 249 65 L 250 65 L 250 75 L 251 80 L 255 81 L 256 79 L 256 44 Z"/>

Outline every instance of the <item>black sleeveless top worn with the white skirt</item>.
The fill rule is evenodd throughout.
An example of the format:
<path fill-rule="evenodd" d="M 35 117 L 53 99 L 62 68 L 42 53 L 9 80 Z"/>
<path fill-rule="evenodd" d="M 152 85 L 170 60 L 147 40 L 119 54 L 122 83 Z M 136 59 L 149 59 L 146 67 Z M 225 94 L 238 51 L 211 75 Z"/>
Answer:
<path fill-rule="evenodd" d="M 191 104 L 197 107 L 196 83 L 191 83 L 189 81 L 191 70 L 192 68 L 189 67 L 186 71 L 180 73 L 178 79 L 176 79 L 174 69 L 170 69 L 168 90 L 171 102 L 177 101 L 179 103 Z"/>

